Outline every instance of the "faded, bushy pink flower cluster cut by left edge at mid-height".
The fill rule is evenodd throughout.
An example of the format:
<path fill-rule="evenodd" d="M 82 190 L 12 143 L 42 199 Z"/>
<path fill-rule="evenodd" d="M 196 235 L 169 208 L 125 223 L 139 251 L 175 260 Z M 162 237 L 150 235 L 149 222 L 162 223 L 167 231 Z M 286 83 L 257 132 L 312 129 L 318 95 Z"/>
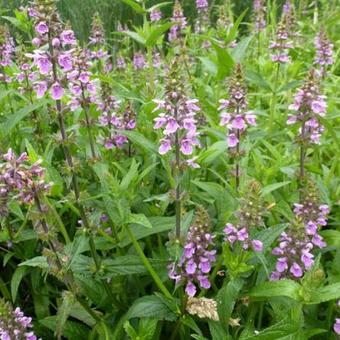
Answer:
<path fill-rule="evenodd" d="M 40 162 L 27 164 L 24 152 L 18 158 L 12 149 L 2 155 L 4 162 L 0 164 L 0 214 L 7 214 L 7 203 L 11 197 L 19 202 L 30 204 L 35 196 L 48 191 L 50 185 L 45 182 L 45 170 Z"/>

